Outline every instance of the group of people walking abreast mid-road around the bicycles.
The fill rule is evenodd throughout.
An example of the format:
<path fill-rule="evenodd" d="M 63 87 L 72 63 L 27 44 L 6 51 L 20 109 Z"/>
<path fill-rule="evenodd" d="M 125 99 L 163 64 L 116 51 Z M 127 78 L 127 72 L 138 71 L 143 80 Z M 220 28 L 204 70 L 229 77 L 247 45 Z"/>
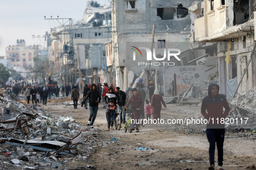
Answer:
<path fill-rule="evenodd" d="M 115 118 L 113 112 L 117 110 L 117 108 L 122 110 L 120 114 L 122 123 L 126 123 L 126 113 L 132 113 L 137 122 L 139 122 L 140 119 L 146 118 L 144 107 L 146 109 L 147 119 L 150 119 L 150 116 L 148 116 L 151 115 L 151 110 L 148 109 L 149 102 L 147 102 L 145 106 L 147 91 L 149 91 L 149 101 L 151 102 L 153 119 L 160 118 L 162 104 L 165 108 L 166 105 L 159 91 L 157 89 L 155 90 L 153 83 L 149 83 L 147 91 L 142 88 L 139 82 L 136 83 L 135 88 L 132 88 L 132 86 L 133 83 L 129 83 L 129 87 L 126 88 L 125 91 L 122 91 L 120 87 L 115 88 L 113 84 L 108 86 L 107 83 L 104 83 L 102 88 L 99 85 L 93 84 L 90 89 L 88 85 L 85 85 L 81 107 L 85 105 L 85 109 L 87 109 L 87 101 L 89 101 L 90 116 L 87 125 L 93 128 L 97 116 L 98 104 L 101 100 L 103 100 L 103 108 L 106 108 L 108 130 L 110 127 L 113 129 L 113 120 Z M 153 93 L 152 90 L 154 91 Z M 74 90 L 71 95 L 74 101 L 73 93 L 75 94 Z M 79 98 L 79 95 L 76 94 L 76 97 Z M 77 108 L 77 104 L 75 103 L 77 103 L 77 101 L 74 101 L 74 108 Z M 136 132 L 139 132 L 139 123 L 136 123 L 135 126 Z"/>

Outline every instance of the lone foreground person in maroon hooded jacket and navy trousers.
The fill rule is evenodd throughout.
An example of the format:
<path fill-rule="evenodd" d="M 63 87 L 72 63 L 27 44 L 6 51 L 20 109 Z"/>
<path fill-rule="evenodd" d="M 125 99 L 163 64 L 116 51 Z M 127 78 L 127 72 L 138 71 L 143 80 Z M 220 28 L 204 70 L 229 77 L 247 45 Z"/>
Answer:
<path fill-rule="evenodd" d="M 208 86 L 208 96 L 204 97 L 201 105 L 201 113 L 208 123 L 206 125 L 206 135 L 209 147 L 210 167 L 209 170 L 214 170 L 214 152 L 215 143 L 218 149 L 218 165 L 219 170 L 224 170 L 223 166 L 223 144 L 225 136 L 225 127 L 219 121 L 225 119 L 230 112 L 230 107 L 224 95 L 218 94 L 219 85 L 210 83 Z M 223 107 L 225 112 L 223 113 Z M 206 113 L 207 110 L 207 113 Z"/>

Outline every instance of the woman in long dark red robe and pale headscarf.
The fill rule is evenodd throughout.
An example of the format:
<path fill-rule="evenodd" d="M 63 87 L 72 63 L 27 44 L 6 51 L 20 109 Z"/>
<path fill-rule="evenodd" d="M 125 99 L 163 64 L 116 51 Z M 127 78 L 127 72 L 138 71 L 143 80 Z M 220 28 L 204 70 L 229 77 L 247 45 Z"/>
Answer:
<path fill-rule="evenodd" d="M 165 102 L 162 98 L 162 96 L 159 94 L 159 91 L 156 89 L 154 91 L 154 94 L 152 95 L 152 100 L 151 100 L 151 106 L 152 108 L 152 116 L 153 116 L 153 120 L 154 119 L 160 119 L 160 115 L 161 115 L 161 109 L 162 109 L 162 104 L 164 105 L 165 109 L 166 109 L 166 105 Z"/>

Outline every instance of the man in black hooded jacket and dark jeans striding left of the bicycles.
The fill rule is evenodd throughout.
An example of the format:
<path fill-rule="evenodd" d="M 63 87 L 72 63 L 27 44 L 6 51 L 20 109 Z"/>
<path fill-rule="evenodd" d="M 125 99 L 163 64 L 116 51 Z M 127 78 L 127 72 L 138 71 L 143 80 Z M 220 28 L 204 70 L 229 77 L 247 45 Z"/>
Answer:
<path fill-rule="evenodd" d="M 89 105 L 90 105 L 90 117 L 89 117 L 87 125 L 91 126 L 91 128 L 93 128 L 93 123 L 96 119 L 97 111 L 99 108 L 98 105 L 101 100 L 100 93 L 97 91 L 95 84 L 91 85 L 91 91 L 89 91 L 87 93 L 87 95 L 85 96 L 84 100 L 82 101 L 81 107 L 83 107 L 87 98 L 89 98 Z"/>

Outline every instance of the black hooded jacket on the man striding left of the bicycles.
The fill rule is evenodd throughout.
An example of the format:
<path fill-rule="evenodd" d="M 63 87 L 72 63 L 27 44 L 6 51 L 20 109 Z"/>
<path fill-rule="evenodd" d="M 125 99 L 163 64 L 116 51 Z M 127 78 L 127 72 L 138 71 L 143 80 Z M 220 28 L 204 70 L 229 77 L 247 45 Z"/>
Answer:
<path fill-rule="evenodd" d="M 93 84 L 95 85 L 95 84 Z M 82 105 L 84 105 L 85 101 L 87 98 L 89 98 L 89 105 L 92 107 L 97 107 L 99 104 L 96 101 L 101 101 L 101 95 L 100 92 L 97 91 L 97 87 L 95 85 L 95 91 L 93 91 L 92 86 L 91 85 L 91 91 L 89 91 L 86 96 L 84 97 L 84 100 L 82 101 Z"/>

